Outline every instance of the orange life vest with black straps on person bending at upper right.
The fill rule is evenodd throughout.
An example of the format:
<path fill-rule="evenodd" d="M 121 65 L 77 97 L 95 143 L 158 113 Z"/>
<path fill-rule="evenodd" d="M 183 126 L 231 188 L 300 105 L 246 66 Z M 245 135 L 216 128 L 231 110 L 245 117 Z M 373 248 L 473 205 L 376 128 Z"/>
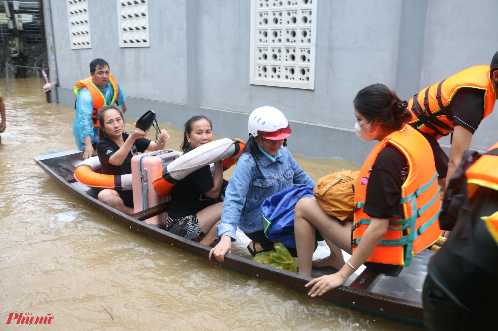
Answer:
<path fill-rule="evenodd" d="M 491 114 L 495 106 L 496 93 L 490 80 L 490 67 L 474 66 L 424 88 L 411 98 L 408 102 L 408 109 L 412 112 L 411 123 L 436 140 L 449 135 L 454 129 L 453 121 L 440 111 L 448 106 L 455 93 L 464 87 L 485 90 L 483 118 Z"/>

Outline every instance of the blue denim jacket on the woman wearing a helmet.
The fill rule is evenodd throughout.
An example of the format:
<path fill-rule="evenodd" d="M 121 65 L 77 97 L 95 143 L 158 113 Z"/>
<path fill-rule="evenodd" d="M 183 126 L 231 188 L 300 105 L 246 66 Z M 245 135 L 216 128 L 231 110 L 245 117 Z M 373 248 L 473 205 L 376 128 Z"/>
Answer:
<path fill-rule="evenodd" d="M 280 153 L 275 162 L 261 153 L 255 157 L 249 153 L 241 155 L 225 192 L 221 223 L 216 226 L 218 238 L 227 235 L 235 241 L 237 226 L 247 233 L 263 230 L 261 204 L 264 199 L 292 184 L 304 183 L 315 187 L 313 179 L 301 169 L 285 147 L 280 148 Z"/>

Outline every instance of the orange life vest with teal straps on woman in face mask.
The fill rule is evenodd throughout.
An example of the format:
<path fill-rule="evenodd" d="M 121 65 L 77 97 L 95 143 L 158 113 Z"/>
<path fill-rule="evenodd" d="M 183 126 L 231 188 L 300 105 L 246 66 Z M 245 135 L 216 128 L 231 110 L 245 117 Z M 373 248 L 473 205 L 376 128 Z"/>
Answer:
<path fill-rule="evenodd" d="M 434 244 L 441 234 L 441 199 L 429 142 L 409 125 L 378 143 L 360 170 L 355 186 L 353 252 L 370 224 L 371 217 L 363 212 L 367 184 L 377 155 L 387 144 L 399 149 L 408 161 L 408 177 L 401 186 L 403 218 L 390 220 L 387 233 L 367 261 L 410 266 L 411 257 Z"/>

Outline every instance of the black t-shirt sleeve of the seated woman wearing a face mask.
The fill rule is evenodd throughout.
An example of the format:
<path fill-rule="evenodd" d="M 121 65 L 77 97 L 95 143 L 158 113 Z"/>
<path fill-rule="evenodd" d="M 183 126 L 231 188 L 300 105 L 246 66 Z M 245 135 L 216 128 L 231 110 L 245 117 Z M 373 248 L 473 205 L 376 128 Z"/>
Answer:
<path fill-rule="evenodd" d="M 390 144 L 384 147 L 372 166 L 364 213 L 377 218 L 402 218 L 401 186 L 407 175 L 408 162 L 403 153 Z"/>

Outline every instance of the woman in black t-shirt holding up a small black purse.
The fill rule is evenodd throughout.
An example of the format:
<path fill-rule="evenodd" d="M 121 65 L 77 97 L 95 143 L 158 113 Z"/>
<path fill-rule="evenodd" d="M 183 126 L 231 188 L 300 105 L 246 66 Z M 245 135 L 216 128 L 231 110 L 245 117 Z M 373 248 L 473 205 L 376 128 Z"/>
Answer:
<path fill-rule="evenodd" d="M 145 136 L 147 132 L 138 129 L 133 124 L 131 132 L 123 132 L 124 118 L 116 106 L 103 107 L 98 114 L 99 142 L 97 155 L 102 165 L 102 173 L 108 175 L 125 175 L 131 173 L 131 158 L 138 152 L 159 151 L 169 139 L 168 131 L 161 130 L 159 141 L 162 144 L 150 141 Z M 119 211 L 131 215 L 133 210 L 133 191 L 115 191 L 104 189 L 99 192 L 99 201 Z"/>

